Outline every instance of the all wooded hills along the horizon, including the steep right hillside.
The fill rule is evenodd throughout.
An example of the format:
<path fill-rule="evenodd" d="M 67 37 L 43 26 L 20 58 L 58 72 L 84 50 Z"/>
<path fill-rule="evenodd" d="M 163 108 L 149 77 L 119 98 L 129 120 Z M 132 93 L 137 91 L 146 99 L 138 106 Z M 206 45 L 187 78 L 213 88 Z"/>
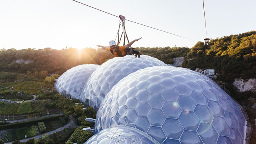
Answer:
<path fill-rule="evenodd" d="M 256 31 L 211 39 L 208 46 L 199 41 L 194 47 L 136 48 L 143 55 L 150 55 L 172 64 L 172 58 L 185 57 L 182 67 L 195 70 L 215 69 L 218 79 L 233 82 L 235 78 L 256 78 Z M 62 74 L 81 64 L 101 65 L 114 56 L 99 48 L 44 49 L 2 49 L 0 50 L 0 71 L 29 72 L 47 71 Z M 32 61 L 29 64 L 17 63 L 17 59 Z"/>

